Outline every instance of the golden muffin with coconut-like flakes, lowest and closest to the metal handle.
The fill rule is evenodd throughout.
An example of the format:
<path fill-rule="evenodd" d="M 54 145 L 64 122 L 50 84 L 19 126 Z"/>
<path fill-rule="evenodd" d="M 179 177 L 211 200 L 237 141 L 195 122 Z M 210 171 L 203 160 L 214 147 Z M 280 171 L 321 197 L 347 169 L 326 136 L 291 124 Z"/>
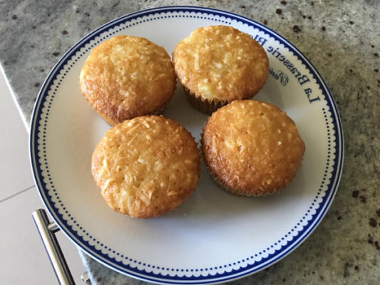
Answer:
<path fill-rule="evenodd" d="M 108 206 L 131 217 L 156 217 L 195 190 L 200 156 L 192 135 L 163 116 L 115 125 L 98 142 L 91 171 Z"/>

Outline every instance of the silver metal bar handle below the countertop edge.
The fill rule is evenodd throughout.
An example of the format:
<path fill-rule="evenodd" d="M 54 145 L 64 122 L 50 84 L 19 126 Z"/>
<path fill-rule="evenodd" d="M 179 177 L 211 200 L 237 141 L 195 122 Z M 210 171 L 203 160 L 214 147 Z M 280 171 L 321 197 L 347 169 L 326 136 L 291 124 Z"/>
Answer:
<path fill-rule="evenodd" d="M 59 228 L 56 223 L 49 222 L 48 215 L 44 209 L 37 209 L 32 214 L 36 227 L 41 236 L 43 246 L 46 249 L 48 258 L 56 273 L 57 279 L 62 285 L 75 285 L 70 269 L 68 269 L 66 259 L 63 257 L 61 247 L 59 247 L 55 233 Z"/>

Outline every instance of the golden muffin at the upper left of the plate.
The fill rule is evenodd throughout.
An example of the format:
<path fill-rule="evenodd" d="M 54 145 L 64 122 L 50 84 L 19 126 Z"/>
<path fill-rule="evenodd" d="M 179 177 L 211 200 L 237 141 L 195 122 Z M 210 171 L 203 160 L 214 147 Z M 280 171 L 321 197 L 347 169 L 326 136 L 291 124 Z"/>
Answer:
<path fill-rule="evenodd" d="M 81 92 L 110 125 L 157 114 L 172 97 L 175 73 L 164 48 L 135 36 L 115 36 L 93 48 L 81 69 Z"/>

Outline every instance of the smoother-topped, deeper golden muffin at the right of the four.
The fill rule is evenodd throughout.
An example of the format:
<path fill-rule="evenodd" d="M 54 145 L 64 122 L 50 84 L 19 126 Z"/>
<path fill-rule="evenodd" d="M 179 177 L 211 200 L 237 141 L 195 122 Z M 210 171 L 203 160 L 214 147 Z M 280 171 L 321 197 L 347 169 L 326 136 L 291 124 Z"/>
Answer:
<path fill-rule="evenodd" d="M 287 186 L 301 165 L 304 142 L 276 106 L 235 100 L 212 113 L 202 133 L 210 174 L 237 195 L 267 195 Z"/>

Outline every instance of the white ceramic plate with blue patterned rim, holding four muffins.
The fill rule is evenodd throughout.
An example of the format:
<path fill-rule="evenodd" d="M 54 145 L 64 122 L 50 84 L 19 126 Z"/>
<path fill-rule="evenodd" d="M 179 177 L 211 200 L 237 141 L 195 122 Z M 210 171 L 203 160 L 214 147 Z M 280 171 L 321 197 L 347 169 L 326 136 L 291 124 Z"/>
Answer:
<path fill-rule="evenodd" d="M 277 105 L 306 144 L 294 181 L 269 197 L 220 190 L 202 167 L 197 191 L 170 214 L 133 219 L 113 212 L 91 176 L 91 154 L 109 126 L 78 90 L 91 48 L 119 34 L 164 46 L 200 26 L 230 25 L 249 33 L 269 56 L 270 74 L 257 100 Z M 206 115 L 178 86 L 165 116 L 199 140 Z M 31 123 L 31 165 L 46 209 L 67 236 L 102 264 L 145 281 L 211 284 L 253 274 L 292 252 L 321 222 L 337 191 L 343 163 L 342 125 L 318 71 L 291 43 L 242 16 L 199 7 L 138 11 L 97 28 L 54 66 Z"/>

